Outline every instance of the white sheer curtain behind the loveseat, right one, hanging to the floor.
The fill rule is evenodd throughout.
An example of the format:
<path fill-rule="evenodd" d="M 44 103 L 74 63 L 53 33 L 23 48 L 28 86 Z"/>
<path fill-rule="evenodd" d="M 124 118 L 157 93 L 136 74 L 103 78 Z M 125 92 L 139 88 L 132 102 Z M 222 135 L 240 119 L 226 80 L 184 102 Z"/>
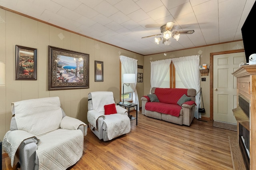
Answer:
<path fill-rule="evenodd" d="M 198 113 L 198 108 L 200 108 L 200 55 L 172 58 L 172 62 L 185 87 L 196 89 L 195 117 L 196 119 L 201 118 L 201 113 Z"/>

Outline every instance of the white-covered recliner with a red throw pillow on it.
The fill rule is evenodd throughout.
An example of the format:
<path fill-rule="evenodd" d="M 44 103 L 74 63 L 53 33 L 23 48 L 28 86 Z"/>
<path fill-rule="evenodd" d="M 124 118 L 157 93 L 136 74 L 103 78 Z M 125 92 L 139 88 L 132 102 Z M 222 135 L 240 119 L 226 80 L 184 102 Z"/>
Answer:
<path fill-rule="evenodd" d="M 131 130 L 127 110 L 115 105 L 113 92 L 110 91 L 88 94 L 87 119 L 92 132 L 104 141 L 112 140 Z"/>

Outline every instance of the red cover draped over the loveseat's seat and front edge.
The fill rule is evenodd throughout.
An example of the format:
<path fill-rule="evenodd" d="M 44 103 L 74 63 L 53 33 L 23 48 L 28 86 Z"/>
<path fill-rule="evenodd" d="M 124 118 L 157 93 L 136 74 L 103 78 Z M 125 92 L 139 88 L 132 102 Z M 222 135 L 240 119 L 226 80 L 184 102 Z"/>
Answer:
<path fill-rule="evenodd" d="M 147 111 L 154 111 L 159 113 L 164 113 L 172 116 L 179 117 L 180 116 L 180 109 L 182 107 L 177 104 L 167 104 L 167 103 L 160 103 L 160 102 L 147 102 L 145 105 L 145 109 Z"/>

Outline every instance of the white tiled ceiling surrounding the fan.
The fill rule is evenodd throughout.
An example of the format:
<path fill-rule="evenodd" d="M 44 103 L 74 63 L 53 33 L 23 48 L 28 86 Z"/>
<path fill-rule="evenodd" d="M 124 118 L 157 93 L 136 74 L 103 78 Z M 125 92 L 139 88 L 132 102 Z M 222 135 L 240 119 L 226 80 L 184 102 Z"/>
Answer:
<path fill-rule="evenodd" d="M 142 55 L 241 40 L 255 0 L 0 0 L 0 6 Z M 0 17 L 0 19 L 2 19 Z M 160 26 L 194 30 L 157 45 Z M 158 36 L 159 37 L 159 36 Z"/>

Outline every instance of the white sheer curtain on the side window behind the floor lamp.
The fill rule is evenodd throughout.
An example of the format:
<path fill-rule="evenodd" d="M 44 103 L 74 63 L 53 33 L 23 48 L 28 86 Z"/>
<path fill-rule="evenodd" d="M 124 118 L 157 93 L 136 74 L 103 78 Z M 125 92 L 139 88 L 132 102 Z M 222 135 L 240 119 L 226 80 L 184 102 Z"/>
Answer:
<path fill-rule="evenodd" d="M 132 103 L 137 104 L 136 107 L 137 111 L 140 111 L 140 105 L 139 105 L 139 97 L 136 90 L 137 85 L 137 76 L 138 76 L 138 64 L 136 59 L 126 57 L 124 55 L 120 55 L 120 61 L 122 63 L 122 68 L 124 69 L 124 74 L 126 73 L 134 73 L 136 77 L 135 83 L 130 83 L 130 86 L 132 87 Z"/>

